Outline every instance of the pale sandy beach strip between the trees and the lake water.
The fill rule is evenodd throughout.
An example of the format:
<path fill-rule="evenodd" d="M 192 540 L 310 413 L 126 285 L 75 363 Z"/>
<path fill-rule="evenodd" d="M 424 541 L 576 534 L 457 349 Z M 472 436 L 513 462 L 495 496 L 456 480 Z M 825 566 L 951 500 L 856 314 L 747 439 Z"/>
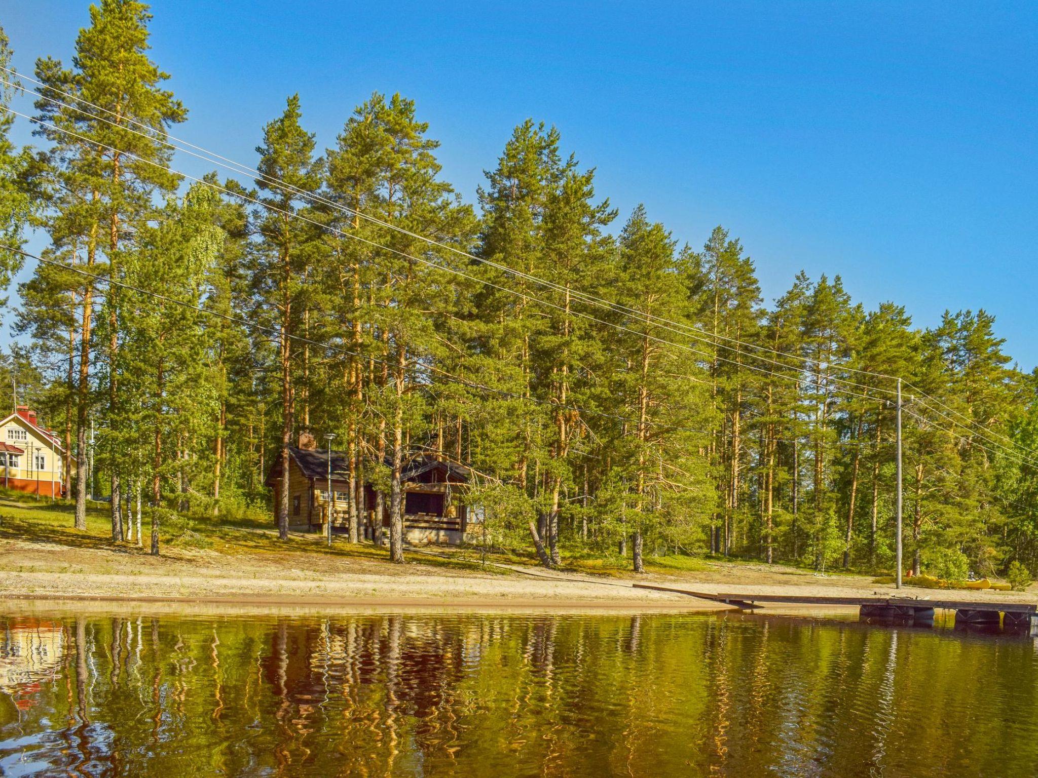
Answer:
<path fill-rule="evenodd" d="M 243 532 L 243 535 L 247 534 Z M 716 611 L 689 594 L 634 588 L 634 583 L 689 592 L 801 595 L 890 595 L 894 587 L 856 575 L 818 576 L 763 564 L 705 562 L 675 575 L 602 575 L 520 565 L 457 565 L 411 553 L 404 565 L 348 554 L 306 553 L 313 540 L 293 537 L 284 552 L 227 554 L 169 548 L 153 557 L 132 547 L 84 548 L 54 541 L 0 540 L 0 598 L 192 602 L 288 606 L 434 606 L 623 608 Z M 905 587 L 905 596 L 938 592 Z M 947 594 L 947 592 L 944 592 Z M 956 600 L 1033 602 L 1030 593 L 956 590 Z"/>

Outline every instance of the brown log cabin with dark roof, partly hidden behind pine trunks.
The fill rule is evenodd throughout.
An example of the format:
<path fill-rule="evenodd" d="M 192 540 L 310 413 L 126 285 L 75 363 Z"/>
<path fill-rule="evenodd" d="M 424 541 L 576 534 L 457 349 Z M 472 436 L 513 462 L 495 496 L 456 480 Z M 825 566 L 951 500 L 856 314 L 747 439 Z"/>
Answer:
<path fill-rule="evenodd" d="M 331 494 L 328 493 L 328 460 L 331 457 Z M 346 451 L 317 448 L 313 438 L 304 433 L 298 446 L 289 447 L 289 528 L 304 532 L 344 533 L 349 527 L 349 461 Z M 447 460 L 420 455 L 411 459 L 401 474 L 404 498 L 404 540 L 409 544 L 460 544 L 477 521 L 464 502 L 472 471 Z M 281 457 L 267 475 L 266 483 L 274 492 L 274 516 L 281 495 Z M 360 490 L 358 490 L 360 491 Z M 371 539 L 377 527 L 386 536 L 389 528 L 389 495 L 385 496 L 381 517 L 375 516 L 376 494 L 371 483 L 363 484 L 360 532 Z"/>

